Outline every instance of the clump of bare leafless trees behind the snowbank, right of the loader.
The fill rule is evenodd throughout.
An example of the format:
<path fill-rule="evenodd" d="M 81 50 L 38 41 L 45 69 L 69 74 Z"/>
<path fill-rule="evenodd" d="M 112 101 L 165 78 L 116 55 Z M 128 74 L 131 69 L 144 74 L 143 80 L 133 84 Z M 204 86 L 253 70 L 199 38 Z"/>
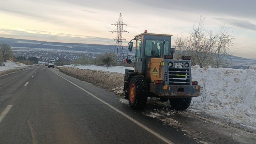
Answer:
<path fill-rule="evenodd" d="M 177 37 L 175 58 L 181 58 L 181 55 L 190 55 L 192 65 L 199 65 L 200 68 L 212 65 L 218 68 L 224 66 L 224 61 L 228 58 L 228 47 L 232 46 L 234 38 L 230 38 L 231 33 L 224 26 L 219 34 L 204 30 L 204 18 L 200 16 L 197 25 L 193 26 L 190 37 L 183 34 Z"/>

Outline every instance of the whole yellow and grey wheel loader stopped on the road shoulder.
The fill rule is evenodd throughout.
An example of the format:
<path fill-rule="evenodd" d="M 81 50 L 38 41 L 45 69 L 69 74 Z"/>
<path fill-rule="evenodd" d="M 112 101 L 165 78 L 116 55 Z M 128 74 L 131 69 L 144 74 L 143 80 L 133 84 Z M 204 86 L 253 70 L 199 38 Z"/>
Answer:
<path fill-rule="evenodd" d="M 125 61 L 134 70 L 125 70 L 124 97 L 134 110 L 143 109 L 148 96 L 169 100 L 175 110 L 186 110 L 191 98 L 200 96 L 200 86 L 191 78 L 190 56 L 173 59 L 175 49 L 171 48 L 171 37 L 145 30 L 128 43 Z M 132 52 L 133 43 L 135 52 Z"/>

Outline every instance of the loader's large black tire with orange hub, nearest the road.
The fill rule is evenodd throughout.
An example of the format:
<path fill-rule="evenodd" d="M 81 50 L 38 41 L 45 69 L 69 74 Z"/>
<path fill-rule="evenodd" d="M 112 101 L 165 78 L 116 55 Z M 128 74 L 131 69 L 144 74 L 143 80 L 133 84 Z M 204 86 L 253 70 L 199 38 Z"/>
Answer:
<path fill-rule="evenodd" d="M 129 105 L 133 110 L 143 110 L 146 106 L 148 99 L 148 84 L 145 78 L 136 75 L 130 79 L 129 90 L 128 90 L 128 100 Z"/>

